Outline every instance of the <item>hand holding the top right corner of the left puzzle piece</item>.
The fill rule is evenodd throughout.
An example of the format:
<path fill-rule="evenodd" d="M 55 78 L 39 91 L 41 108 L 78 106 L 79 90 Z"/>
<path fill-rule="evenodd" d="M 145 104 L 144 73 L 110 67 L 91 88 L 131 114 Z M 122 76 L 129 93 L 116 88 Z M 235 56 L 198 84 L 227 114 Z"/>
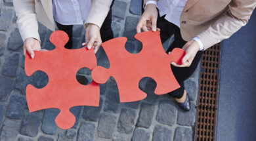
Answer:
<path fill-rule="evenodd" d="M 101 43 L 100 28 L 95 24 L 88 24 L 85 31 L 85 43 L 82 43 L 82 45 L 88 49 L 93 47 L 96 53 L 100 49 Z"/>

